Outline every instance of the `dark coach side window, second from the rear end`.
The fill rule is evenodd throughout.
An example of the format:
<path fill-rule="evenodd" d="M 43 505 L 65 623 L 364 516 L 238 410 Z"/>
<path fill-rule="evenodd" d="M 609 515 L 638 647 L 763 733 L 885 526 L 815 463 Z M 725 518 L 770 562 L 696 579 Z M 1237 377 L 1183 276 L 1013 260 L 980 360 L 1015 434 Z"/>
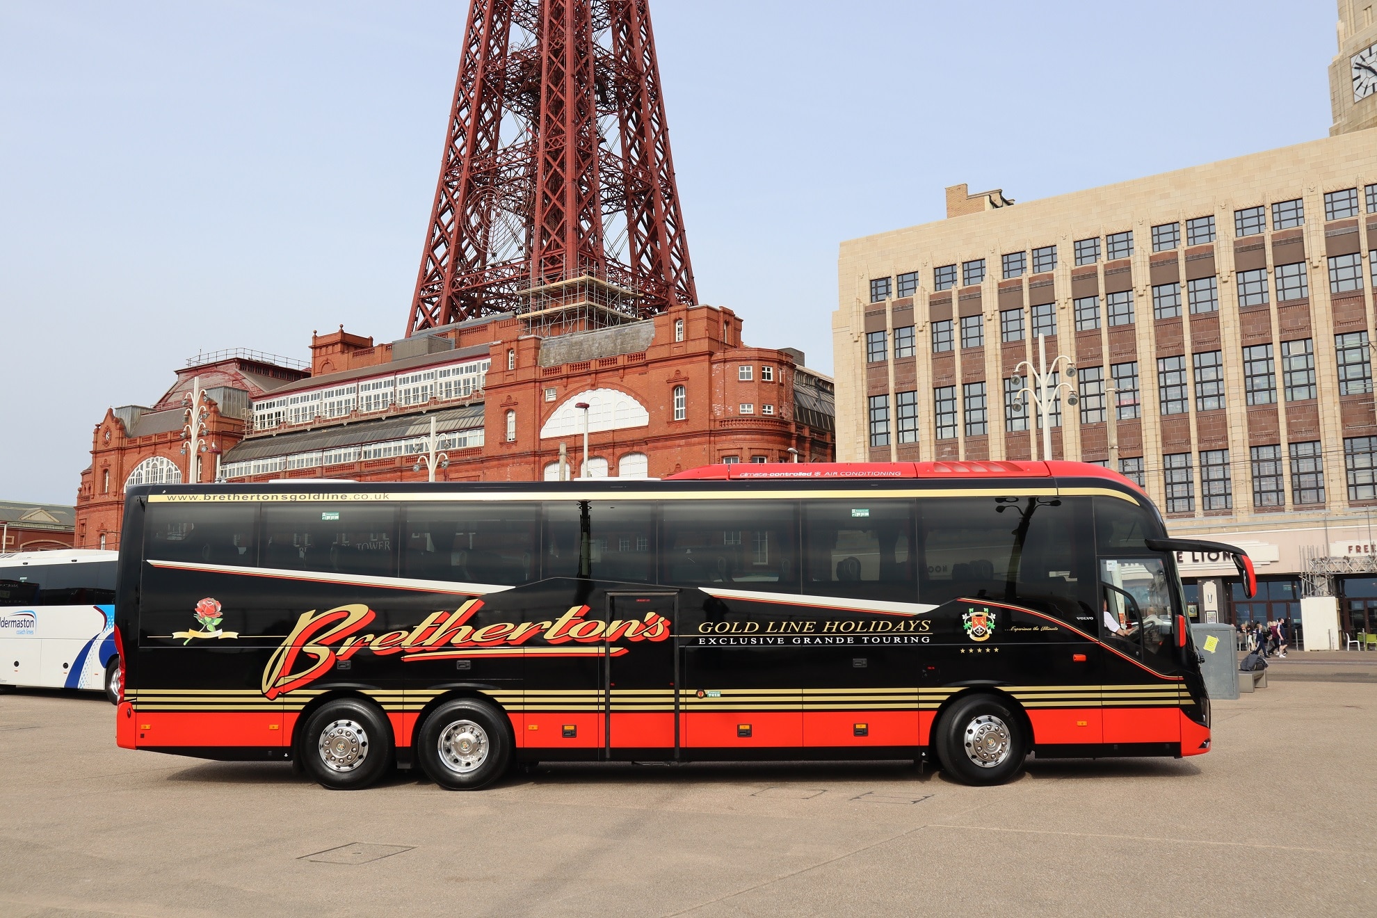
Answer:
<path fill-rule="evenodd" d="M 263 567 L 392 577 L 397 508 L 319 502 L 263 508 Z"/>

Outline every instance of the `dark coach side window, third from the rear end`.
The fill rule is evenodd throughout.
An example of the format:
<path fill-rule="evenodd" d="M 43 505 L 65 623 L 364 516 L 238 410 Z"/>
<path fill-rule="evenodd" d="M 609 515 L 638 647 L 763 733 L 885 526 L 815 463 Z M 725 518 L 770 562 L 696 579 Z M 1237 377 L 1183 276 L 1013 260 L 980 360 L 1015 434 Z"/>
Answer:
<path fill-rule="evenodd" d="M 516 586 L 538 577 L 540 504 L 406 506 L 402 577 Z"/>

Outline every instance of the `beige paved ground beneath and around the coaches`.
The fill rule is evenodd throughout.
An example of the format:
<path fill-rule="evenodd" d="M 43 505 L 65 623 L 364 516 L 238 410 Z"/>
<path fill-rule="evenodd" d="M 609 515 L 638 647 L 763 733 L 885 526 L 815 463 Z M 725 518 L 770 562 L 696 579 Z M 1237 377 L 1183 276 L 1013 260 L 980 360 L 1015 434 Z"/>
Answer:
<path fill-rule="evenodd" d="M 3 695 L 0 915 L 1377 914 L 1377 684 L 1329 679 L 1377 681 L 1377 654 L 1279 663 L 1216 706 L 1208 756 L 1033 761 L 993 789 L 562 765 L 332 793 L 117 749 L 96 698 Z"/>

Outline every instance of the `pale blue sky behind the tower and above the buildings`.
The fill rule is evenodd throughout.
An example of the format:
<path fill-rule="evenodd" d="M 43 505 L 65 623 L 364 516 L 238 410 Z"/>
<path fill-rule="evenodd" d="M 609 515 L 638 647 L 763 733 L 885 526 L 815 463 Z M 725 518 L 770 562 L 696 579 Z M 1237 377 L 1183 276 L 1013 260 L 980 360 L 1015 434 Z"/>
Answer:
<path fill-rule="evenodd" d="M 1323 136 L 1333 0 L 653 0 L 688 245 L 832 366 L 841 239 Z M 465 0 L 0 0 L 0 497 L 198 348 L 405 330 Z"/>

